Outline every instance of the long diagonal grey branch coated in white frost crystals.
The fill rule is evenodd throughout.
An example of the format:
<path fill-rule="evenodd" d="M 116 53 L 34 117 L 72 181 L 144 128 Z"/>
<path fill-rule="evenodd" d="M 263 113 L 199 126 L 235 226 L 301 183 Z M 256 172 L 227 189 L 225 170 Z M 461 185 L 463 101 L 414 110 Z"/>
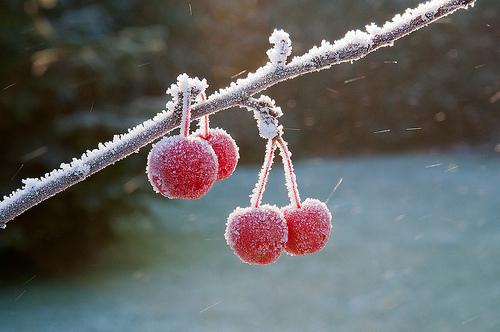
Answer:
<path fill-rule="evenodd" d="M 382 27 L 372 23 L 365 27 L 366 31 L 349 31 L 344 38 L 333 44 L 323 41 L 320 47 L 313 47 L 306 54 L 294 57 L 289 63 L 286 63 L 286 60 L 292 51 L 290 38 L 283 30 L 275 30 L 269 38 L 270 43 L 274 44 L 267 52 L 270 61 L 255 73 L 238 79 L 229 87 L 194 105 L 191 110 L 192 119 L 234 106 L 251 106 L 259 99 L 250 97 L 272 85 L 327 69 L 341 62 L 358 60 L 378 48 L 392 46 L 395 40 L 457 9 L 473 6 L 474 2 L 475 0 L 429 1 L 415 9 L 407 9 L 402 15 L 396 15 Z M 99 143 L 96 149 L 87 151 L 80 159 L 74 158 L 70 164 L 63 163 L 59 169 L 41 178 L 23 180 L 24 186 L 21 189 L 4 196 L 0 202 L 0 228 L 5 228 L 8 221 L 43 200 L 137 152 L 143 146 L 179 127 L 180 122 L 181 116 L 178 112 L 169 109 L 162 111 L 153 119 L 130 129 L 128 133 L 115 135 L 110 142 Z"/>

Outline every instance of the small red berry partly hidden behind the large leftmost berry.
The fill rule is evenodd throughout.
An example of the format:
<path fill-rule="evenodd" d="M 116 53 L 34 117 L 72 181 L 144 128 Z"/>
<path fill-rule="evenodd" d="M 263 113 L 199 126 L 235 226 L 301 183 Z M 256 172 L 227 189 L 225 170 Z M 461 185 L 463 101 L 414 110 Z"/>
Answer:
<path fill-rule="evenodd" d="M 203 131 L 198 129 L 194 136 L 207 140 L 212 146 L 219 161 L 219 171 L 217 181 L 223 180 L 233 174 L 240 155 L 238 146 L 234 139 L 224 129 L 216 128 L 208 131 L 208 136 L 203 135 Z"/>

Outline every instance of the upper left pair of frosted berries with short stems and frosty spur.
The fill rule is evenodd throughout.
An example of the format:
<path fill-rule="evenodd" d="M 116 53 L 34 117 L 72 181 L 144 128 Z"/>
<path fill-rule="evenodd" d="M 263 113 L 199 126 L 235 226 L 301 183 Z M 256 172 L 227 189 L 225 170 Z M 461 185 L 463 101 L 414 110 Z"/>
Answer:
<path fill-rule="evenodd" d="M 201 119 L 200 129 L 189 134 L 191 100 L 198 95 L 204 100 L 205 88 L 204 81 L 181 75 L 167 90 L 174 96 L 170 107 L 182 109 L 181 134 L 153 145 L 146 173 L 155 191 L 168 198 L 201 198 L 236 168 L 238 146 L 223 129 L 209 128 L 208 116 Z"/>

